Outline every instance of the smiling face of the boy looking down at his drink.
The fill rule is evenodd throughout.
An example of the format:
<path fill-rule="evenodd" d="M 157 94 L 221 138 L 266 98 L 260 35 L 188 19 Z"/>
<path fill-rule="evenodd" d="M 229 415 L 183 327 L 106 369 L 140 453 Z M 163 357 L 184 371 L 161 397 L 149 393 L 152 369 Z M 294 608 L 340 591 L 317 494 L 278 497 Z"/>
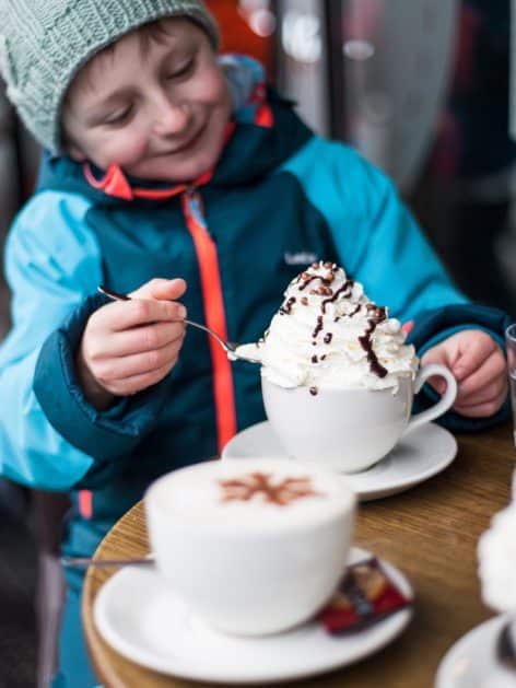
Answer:
<path fill-rule="evenodd" d="M 206 33 L 168 19 L 157 37 L 133 32 L 77 75 L 63 106 L 70 155 L 142 179 L 187 182 L 213 167 L 231 95 Z"/>

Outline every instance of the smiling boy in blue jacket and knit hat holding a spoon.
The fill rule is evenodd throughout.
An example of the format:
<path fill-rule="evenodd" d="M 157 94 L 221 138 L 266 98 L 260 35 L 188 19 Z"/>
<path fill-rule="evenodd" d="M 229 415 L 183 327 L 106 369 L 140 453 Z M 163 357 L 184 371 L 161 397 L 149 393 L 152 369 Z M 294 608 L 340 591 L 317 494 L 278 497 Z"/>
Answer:
<path fill-rule="evenodd" d="M 263 419 L 259 371 L 185 333 L 185 306 L 255 341 L 315 259 L 414 320 L 423 361 L 459 382 L 449 425 L 505 417 L 504 315 L 454 289 L 384 175 L 315 137 L 254 61 L 216 59 L 200 2 L 0 9 L 9 95 L 49 151 L 7 248 L 1 473 L 72 491 L 68 555 L 91 555 L 159 475 Z M 134 299 L 107 303 L 99 283 Z M 69 575 L 60 679 L 74 688 L 94 681 L 77 646 L 80 588 Z"/>

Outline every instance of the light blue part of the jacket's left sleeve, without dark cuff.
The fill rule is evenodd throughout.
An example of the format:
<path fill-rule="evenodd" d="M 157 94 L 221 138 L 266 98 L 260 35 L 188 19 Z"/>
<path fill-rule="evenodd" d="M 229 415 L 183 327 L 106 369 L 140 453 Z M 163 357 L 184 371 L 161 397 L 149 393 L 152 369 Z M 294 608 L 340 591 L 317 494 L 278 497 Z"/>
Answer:
<path fill-rule="evenodd" d="M 93 464 L 48 422 L 33 388 L 43 342 L 101 278 L 86 210 L 79 197 L 36 196 L 5 246 L 12 329 L 0 346 L 0 473 L 30 487 L 68 490 Z"/>

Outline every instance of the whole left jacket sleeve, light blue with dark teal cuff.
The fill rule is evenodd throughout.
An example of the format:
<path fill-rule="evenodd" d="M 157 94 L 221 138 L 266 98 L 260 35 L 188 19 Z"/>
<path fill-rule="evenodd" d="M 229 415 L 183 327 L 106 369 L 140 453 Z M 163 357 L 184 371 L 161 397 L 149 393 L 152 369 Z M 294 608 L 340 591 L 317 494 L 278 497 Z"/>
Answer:
<path fill-rule="evenodd" d="M 74 353 L 105 300 L 89 202 L 45 191 L 16 219 L 7 244 L 13 327 L 0 347 L 0 473 L 31 487 L 68 490 L 129 453 L 155 424 L 168 381 L 106 412 L 85 399 Z"/>

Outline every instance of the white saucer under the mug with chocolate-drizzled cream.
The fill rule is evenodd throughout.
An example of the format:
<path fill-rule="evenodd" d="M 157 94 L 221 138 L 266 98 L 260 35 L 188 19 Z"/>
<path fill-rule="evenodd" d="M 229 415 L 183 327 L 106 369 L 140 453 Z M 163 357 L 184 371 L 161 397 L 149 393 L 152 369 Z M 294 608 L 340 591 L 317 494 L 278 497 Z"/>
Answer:
<path fill-rule="evenodd" d="M 409 432 L 372 468 L 348 474 L 347 478 L 361 501 L 380 499 L 435 476 L 449 466 L 456 454 L 454 435 L 435 423 L 426 423 Z M 269 421 L 243 430 L 222 452 L 222 458 L 258 456 L 288 458 Z"/>

